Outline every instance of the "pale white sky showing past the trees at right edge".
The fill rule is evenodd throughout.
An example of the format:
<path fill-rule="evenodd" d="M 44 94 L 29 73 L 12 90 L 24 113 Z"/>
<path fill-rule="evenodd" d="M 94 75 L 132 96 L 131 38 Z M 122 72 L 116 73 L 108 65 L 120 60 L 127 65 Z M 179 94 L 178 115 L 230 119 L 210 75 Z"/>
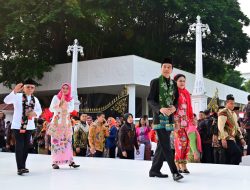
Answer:
<path fill-rule="evenodd" d="M 238 0 L 238 2 L 240 3 L 241 11 L 250 18 L 250 0 Z M 243 31 L 250 36 L 250 26 L 244 27 Z M 250 73 L 250 51 L 247 55 L 247 62 L 241 63 L 236 70 L 241 73 Z"/>

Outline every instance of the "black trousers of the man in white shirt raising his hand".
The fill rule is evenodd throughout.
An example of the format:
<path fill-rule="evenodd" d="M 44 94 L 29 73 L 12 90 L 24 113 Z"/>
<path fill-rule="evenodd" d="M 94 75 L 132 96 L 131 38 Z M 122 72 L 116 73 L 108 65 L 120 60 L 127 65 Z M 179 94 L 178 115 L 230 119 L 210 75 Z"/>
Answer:
<path fill-rule="evenodd" d="M 20 133 L 20 130 L 13 129 L 16 139 L 16 163 L 17 169 L 26 168 L 26 160 L 29 152 L 29 143 L 32 131 L 27 130 L 25 133 Z"/>

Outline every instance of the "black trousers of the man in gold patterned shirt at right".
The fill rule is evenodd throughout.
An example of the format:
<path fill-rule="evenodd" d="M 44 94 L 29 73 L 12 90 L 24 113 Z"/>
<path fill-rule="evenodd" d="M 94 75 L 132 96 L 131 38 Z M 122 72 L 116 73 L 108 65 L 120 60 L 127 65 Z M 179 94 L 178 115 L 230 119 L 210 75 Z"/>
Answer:
<path fill-rule="evenodd" d="M 227 140 L 226 164 L 239 165 L 241 162 L 242 151 L 233 140 Z"/>

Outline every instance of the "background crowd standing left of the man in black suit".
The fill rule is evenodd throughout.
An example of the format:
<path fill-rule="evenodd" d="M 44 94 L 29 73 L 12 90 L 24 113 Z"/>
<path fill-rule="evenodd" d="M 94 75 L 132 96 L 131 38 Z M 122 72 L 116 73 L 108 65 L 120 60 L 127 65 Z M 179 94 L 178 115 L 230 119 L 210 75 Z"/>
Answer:
<path fill-rule="evenodd" d="M 1 129 L 4 131 L 1 133 L 1 151 L 15 152 L 15 136 L 11 130 L 11 122 L 8 121 L 5 125 L 4 113 L 1 114 Z M 36 120 L 36 129 L 29 141 L 29 153 L 51 155 L 54 140 L 48 131 L 51 130 L 50 122 L 46 119 Z M 74 156 L 134 159 L 134 147 L 139 150 L 139 146 L 144 144 L 144 159 L 151 160 L 151 142 L 156 142 L 156 137 L 155 133 L 152 133 L 147 115 L 142 116 L 138 124 L 134 125 L 132 114 L 105 119 L 104 113 L 98 113 L 93 121 L 92 116 L 74 112 L 70 122 L 73 132 L 69 139 Z"/>

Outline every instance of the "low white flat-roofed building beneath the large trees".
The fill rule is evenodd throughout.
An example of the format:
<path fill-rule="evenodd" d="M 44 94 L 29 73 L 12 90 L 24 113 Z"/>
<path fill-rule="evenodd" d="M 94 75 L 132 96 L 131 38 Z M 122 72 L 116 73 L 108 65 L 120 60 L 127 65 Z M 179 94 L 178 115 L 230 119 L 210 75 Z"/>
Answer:
<path fill-rule="evenodd" d="M 71 63 L 56 65 L 51 72 L 45 73 L 42 80 L 38 81 L 41 86 L 37 88 L 36 96 L 41 100 L 42 104 L 48 106 L 50 98 L 58 92 L 61 84 L 63 82 L 70 82 L 71 65 Z M 128 111 L 133 114 L 148 114 L 147 96 L 150 81 L 160 75 L 160 69 L 161 64 L 135 55 L 81 61 L 78 63 L 78 94 L 79 96 L 81 94 L 102 94 L 105 99 L 105 95 L 117 95 L 126 86 L 129 94 Z M 178 73 L 186 76 L 187 89 L 192 93 L 195 75 L 174 68 L 173 76 Z M 235 96 L 235 101 L 239 105 L 247 103 L 248 93 L 245 91 L 206 78 L 204 79 L 204 83 L 205 95 L 208 98 L 212 98 L 216 89 L 218 89 L 218 98 L 222 104 L 229 93 Z M 1 104 L 3 103 L 4 96 L 9 92 L 10 89 L 0 84 Z M 2 104 L 0 109 L 5 111 L 8 117 L 11 117 L 12 110 L 7 109 L 6 105 Z M 196 109 L 195 113 L 199 111 Z"/>

